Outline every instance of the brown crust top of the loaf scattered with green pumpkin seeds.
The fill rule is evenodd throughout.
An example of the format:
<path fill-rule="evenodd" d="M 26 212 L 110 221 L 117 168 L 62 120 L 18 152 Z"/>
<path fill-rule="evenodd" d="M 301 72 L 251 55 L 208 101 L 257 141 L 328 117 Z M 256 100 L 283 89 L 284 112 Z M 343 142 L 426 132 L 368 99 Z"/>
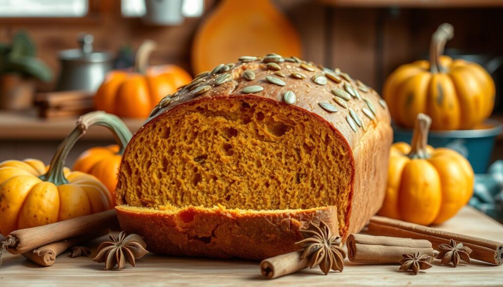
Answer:
<path fill-rule="evenodd" d="M 235 64 L 199 73 L 191 83 L 166 95 L 147 122 L 180 104 L 209 97 L 263 97 L 292 105 L 330 122 L 351 146 L 370 127 L 391 122 L 384 100 L 362 81 L 339 68 L 331 70 L 277 54 L 242 56 Z"/>

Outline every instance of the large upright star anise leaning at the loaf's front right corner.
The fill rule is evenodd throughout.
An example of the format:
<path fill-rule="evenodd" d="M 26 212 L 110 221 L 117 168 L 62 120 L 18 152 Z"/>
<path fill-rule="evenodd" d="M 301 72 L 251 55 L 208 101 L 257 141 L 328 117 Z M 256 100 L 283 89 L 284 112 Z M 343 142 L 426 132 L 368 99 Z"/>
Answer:
<path fill-rule="evenodd" d="M 301 258 L 309 258 L 310 268 L 319 265 L 325 275 L 330 269 L 343 271 L 346 252 L 341 248 L 341 237 L 332 236 L 323 221 L 319 223 L 319 227 L 311 222 L 308 229 L 300 232 L 305 239 L 296 244 L 304 248 Z"/>

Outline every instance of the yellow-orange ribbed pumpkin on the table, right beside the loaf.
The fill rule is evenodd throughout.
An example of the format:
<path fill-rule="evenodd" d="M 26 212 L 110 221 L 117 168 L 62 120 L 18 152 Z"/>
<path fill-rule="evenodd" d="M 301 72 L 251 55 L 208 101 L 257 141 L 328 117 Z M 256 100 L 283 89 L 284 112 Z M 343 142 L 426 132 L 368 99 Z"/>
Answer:
<path fill-rule="evenodd" d="M 391 147 L 386 197 L 379 215 L 422 225 L 440 224 L 468 203 L 473 169 L 462 155 L 427 145 L 431 118 L 419 114 L 412 143 Z"/>

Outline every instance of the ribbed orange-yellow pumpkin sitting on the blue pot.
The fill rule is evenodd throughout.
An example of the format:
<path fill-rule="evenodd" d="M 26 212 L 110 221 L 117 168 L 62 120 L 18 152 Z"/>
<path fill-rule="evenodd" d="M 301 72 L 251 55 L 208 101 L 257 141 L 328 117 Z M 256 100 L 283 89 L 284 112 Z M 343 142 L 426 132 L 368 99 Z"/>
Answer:
<path fill-rule="evenodd" d="M 417 114 L 428 114 L 432 130 L 472 129 L 487 119 L 494 107 L 494 81 L 484 68 L 442 56 L 454 36 L 450 24 L 433 34 L 430 61 L 398 67 L 387 78 L 383 97 L 398 126 L 412 128 Z"/>

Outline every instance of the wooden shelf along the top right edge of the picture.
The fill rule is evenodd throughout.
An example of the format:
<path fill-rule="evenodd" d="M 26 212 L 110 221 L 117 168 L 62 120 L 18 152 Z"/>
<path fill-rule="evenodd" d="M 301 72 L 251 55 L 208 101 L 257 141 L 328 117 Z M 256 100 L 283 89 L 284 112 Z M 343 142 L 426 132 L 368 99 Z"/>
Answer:
<path fill-rule="evenodd" d="M 503 0 L 318 0 L 318 3 L 348 8 L 469 8 L 503 7 Z"/>

